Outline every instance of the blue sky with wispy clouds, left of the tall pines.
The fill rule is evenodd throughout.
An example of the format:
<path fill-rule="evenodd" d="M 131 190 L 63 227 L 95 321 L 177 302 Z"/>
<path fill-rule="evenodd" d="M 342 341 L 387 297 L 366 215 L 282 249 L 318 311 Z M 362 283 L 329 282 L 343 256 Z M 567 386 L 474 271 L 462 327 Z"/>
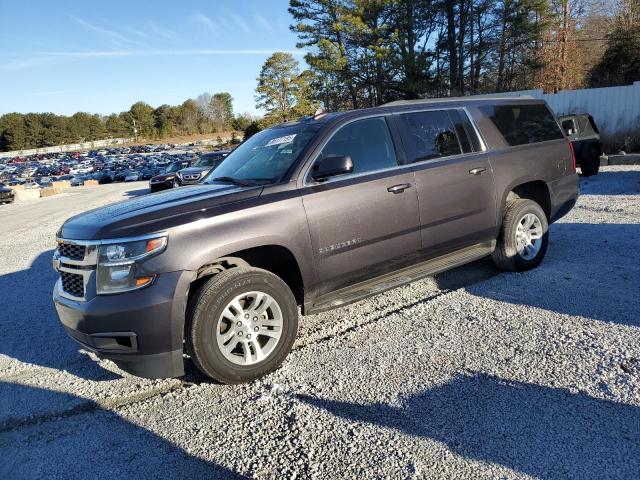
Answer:
<path fill-rule="evenodd" d="M 108 114 L 227 91 L 257 113 L 265 59 L 296 50 L 287 0 L 0 0 L 0 114 Z"/>

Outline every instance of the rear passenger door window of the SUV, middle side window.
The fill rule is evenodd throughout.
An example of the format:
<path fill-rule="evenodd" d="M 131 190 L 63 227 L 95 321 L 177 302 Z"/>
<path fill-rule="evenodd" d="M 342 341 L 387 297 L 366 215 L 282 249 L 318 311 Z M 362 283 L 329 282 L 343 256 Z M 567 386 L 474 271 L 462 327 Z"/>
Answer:
<path fill-rule="evenodd" d="M 462 153 L 456 127 L 445 110 L 404 113 L 399 117 L 409 163 Z"/>

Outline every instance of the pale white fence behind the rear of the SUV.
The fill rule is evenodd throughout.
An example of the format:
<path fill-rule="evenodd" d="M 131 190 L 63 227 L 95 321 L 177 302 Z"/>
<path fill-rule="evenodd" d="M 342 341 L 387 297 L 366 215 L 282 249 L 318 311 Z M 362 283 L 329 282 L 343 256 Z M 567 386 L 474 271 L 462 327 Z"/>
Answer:
<path fill-rule="evenodd" d="M 622 87 L 563 90 L 558 93 L 523 90 L 504 95 L 542 98 L 556 115 L 590 113 L 603 135 L 640 135 L 640 81 Z"/>

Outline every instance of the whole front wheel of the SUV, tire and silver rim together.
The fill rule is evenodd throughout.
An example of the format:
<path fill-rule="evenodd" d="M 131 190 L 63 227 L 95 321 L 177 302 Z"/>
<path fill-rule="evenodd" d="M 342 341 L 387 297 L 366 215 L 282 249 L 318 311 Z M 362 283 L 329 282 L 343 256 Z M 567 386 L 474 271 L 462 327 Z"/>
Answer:
<path fill-rule="evenodd" d="M 264 301 L 256 303 L 258 298 Z M 258 313 L 264 305 L 269 306 Z M 244 383 L 282 364 L 298 332 L 298 306 L 287 284 L 273 273 L 231 268 L 197 291 L 187 308 L 187 322 L 187 353 L 196 367 L 219 382 Z"/>

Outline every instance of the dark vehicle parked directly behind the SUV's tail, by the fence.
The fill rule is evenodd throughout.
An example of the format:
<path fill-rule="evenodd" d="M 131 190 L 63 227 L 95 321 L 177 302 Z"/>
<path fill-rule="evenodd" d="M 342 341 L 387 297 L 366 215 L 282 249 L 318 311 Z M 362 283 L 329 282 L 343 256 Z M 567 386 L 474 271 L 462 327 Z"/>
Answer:
<path fill-rule="evenodd" d="M 582 175 L 589 177 L 600 170 L 602 142 L 600 131 L 588 113 L 564 115 L 558 120 L 565 131 L 576 155 L 576 164 Z"/>

